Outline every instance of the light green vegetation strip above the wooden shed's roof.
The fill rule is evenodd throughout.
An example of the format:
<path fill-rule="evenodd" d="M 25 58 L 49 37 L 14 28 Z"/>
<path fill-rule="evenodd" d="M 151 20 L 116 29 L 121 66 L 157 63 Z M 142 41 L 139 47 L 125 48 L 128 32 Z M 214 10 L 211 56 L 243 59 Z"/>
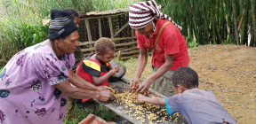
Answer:
<path fill-rule="evenodd" d="M 36 11 L 47 17 L 52 9 L 74 8 L 79 12 L 103 12 L 128 8 L 130 4 L 140 1 L 142 0 L 38 0 L 33 4 L 40 4 Z"/>

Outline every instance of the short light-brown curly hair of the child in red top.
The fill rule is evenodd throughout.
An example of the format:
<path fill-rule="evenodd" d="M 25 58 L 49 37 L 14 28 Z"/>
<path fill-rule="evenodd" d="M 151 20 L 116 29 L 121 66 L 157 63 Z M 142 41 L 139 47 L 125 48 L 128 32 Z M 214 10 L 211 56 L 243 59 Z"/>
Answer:
<path fill-rule="evenodd" d="M 102 54 L 106 53 L 106 50 L 116 50 L 115 43 L 106 37 L 101 37 L 96 43 L 94 44 L 95 52 L 100 52 Z"/>

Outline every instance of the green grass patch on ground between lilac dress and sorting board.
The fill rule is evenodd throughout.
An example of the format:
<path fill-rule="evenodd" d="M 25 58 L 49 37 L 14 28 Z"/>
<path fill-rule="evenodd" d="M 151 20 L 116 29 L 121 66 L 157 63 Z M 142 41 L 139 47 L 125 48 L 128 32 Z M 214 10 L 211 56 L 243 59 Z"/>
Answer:
<path fill-rule="evenodd" d="M 77 124 L 84 120 L 90 113 L 99 116 L 106 121 L 117 120 L 116 112 L 108 110 L 103 105 L 90 105 L 87 108 L 83 108 L 82 105 L 75 104 L 74 107 L 67 112 L 62 124 Z"/>

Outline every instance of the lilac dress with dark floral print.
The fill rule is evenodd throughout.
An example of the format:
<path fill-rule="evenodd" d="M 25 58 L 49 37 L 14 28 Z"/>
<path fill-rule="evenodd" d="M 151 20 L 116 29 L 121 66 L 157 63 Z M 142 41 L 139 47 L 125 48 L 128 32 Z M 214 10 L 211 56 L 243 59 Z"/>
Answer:
<path fill-rule="evenodd" d="M 68 80 L 74 54 L 38 43 L 21 50 L 0 73 L 0 124 L 61 124 L 68 97 L 53 85 Z"/>

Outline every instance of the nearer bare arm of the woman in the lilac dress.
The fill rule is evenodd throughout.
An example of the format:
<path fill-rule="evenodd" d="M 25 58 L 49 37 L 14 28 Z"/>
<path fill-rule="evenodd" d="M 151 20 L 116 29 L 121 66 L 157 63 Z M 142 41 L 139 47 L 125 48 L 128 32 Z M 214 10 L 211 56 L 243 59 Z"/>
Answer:
<path fill-rule="evenodd" d="M 68 97 L 74 97 L 79 99 L 84 98 L 96 98 L 101 101 L 108 101 L 111 97 L 114 97 L 114 94 L 110 92 L 108 89 L 103 90 L 88 90 L 88 89 L 80 89 L 74 88 L 70 85 L 69 81 L 62 81 L 58 84 L 53 85 L 55 88 L 60 89 Z"/>

